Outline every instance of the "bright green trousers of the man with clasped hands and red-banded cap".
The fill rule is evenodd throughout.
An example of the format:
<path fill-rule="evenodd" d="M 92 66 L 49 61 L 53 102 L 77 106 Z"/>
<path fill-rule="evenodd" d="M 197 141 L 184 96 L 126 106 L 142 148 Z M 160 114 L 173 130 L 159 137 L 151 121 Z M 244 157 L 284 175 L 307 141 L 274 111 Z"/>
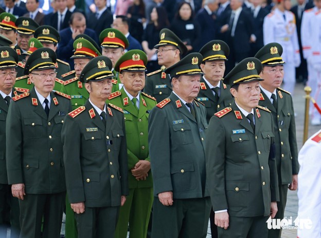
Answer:
<path fill-rule="evenodd" d="M 126 238 L 128 223 L 130 238 L 146 238 L 153 204 L 152 188 L 131 188 L 126 203 L 120 207 L 115 237 Z"/>

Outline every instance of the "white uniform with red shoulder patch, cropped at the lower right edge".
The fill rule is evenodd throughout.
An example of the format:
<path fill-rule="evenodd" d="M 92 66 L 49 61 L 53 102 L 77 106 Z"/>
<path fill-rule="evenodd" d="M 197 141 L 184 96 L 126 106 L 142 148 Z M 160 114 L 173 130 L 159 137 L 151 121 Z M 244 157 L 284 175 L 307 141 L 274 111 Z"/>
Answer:
<path fill-rule="evenodd" d="M 299 219 L 310 219 L 311 229 L 299 226 L 298 238 L 321 238 L 321 130 L 302 146 L 298 161 Z"/>

